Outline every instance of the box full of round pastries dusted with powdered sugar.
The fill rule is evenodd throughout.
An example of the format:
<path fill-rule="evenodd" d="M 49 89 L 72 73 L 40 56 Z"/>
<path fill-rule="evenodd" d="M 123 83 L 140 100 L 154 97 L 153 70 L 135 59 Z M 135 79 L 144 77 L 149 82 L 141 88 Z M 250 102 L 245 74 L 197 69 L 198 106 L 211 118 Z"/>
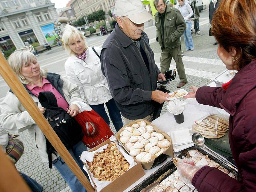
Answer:
<path fill-rule="evenodd" d="M 161 154 L 173 157 L 170 136 L 161 132 L 149 121 L 137 119 L 124 125 L 117 132 L 116 138 L 127 153 L 139 161 L 144 169 L 149 170 Z"/>

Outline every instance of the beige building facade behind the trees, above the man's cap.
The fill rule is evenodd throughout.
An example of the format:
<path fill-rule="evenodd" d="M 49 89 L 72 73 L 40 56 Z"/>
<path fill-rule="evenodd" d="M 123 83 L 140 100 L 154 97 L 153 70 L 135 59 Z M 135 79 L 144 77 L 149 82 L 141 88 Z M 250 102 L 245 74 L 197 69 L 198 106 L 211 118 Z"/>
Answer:
<path fill-rule="evenodd" d="M 77 20 L 100 9 L 105 11 L 106 18 L 110 19 L 108 11 L 114 9 L 115 3 L 116 0 L 73 0 L 70 6 L 74 10 Z"/>

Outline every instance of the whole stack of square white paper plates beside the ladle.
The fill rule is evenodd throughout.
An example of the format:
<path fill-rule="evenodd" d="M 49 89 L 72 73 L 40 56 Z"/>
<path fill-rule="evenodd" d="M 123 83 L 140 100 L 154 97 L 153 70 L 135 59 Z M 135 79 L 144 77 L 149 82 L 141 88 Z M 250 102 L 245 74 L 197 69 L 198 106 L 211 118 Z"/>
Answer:
<path fill-rule="evenodd" d="M 171 139 L 174 152 L 181 151 L 194 145 L 188 128 L 171 132 Z"/>

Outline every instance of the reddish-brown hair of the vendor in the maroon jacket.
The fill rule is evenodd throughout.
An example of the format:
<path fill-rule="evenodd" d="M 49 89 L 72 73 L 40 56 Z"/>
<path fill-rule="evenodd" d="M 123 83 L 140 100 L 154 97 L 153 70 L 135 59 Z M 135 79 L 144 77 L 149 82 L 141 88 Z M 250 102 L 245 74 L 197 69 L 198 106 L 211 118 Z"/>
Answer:
<path fill-rule="evenodd" d="M 256 58 L 256 1 L 221 1 L 212 18 L 212 35 L 227 52 L 235 47 L 234 67 L 242 69 Z"/>

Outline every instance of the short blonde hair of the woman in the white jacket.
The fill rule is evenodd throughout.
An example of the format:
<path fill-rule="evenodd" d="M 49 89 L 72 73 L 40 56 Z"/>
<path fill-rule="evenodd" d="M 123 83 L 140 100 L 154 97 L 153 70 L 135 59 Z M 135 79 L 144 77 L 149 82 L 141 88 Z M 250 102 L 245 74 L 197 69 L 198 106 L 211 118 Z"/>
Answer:
<path fill-rule="evenodd" d="M 71 25 L 66 25 L 64 33 L 62 35 L 62 40 L 63 40 L 63 43 L 64 43 L 64 47 L 65 47 L 65 49 L 66 49 L 66 51 L 68 52 L 69 55 L 76 54 L 69 47 L 69 44 L 71 42 L 74 42 L 76 37 L 79 37 L 79 39 L 84 43 L 85 50 L 87 50 L 88 46 L 86 45 L 84 35 L 80 31 L 78 31 L 77 28 L 75 28 Z"/>

